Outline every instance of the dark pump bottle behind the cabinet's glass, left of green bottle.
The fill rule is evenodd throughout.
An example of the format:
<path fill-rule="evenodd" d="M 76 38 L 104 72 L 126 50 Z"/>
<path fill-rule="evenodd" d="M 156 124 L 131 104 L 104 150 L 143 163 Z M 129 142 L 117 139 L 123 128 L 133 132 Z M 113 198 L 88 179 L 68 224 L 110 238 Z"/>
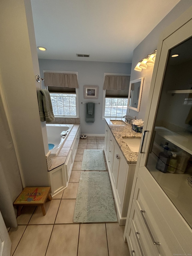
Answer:
<path fill-rule="evenodd" d="M 161 171 L 162 173 L 167 172 L 168 164 L 170 161 L 170 155 L 168 153 L 168 150 L 169 150 L 169 143 L 166 142 L 164 145 L 164 152 L 160 152 L 158 155 L 156 169 Z"/>

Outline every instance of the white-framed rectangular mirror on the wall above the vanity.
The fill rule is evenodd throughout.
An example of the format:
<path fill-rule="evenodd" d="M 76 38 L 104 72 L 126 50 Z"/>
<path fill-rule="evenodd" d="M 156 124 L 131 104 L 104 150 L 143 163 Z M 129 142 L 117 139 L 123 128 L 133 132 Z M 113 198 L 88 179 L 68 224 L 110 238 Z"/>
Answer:
<path fill-rule="evenodd" d="M 139 112 L 144 77 L 130 81 L 128 108 Z"/>

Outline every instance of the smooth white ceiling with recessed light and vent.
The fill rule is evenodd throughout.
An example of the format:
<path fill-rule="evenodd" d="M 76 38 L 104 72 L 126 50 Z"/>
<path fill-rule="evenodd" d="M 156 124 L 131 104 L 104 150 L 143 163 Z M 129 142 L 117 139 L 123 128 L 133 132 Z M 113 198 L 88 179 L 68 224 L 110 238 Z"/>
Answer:
<path fill-rule="evenodd" d="M 132 62 L 180 0 L 31 0 L 40 59 Z M 90 58 L 76 53 L 90 54 Z"/>

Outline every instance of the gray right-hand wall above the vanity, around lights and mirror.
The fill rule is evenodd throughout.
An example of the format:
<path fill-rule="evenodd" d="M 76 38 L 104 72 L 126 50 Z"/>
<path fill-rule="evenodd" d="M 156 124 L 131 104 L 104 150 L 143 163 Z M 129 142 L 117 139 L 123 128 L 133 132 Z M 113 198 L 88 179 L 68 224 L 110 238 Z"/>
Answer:
<path fill-rule="evenodd" d="M 131 80 L 144 77 L 143 92 L 141 97 L 140 111 L 130 110 L 128 116 L 137 116 L 137 119 L 145 119 L 146 105 L 149 96 L 149 89 L 152 79 L 153 67 L 143 69 L 141 72 L 135 71 L 134 68 L 140 59 L 147 56 L 157 49 L 159 36 L 161 32 L 176 20 L 184 11 L 192 5 L 192 1 L 181 0 L 161 22 L 149 33 L 149 35 L 135 48 L 131 67 Z"/>

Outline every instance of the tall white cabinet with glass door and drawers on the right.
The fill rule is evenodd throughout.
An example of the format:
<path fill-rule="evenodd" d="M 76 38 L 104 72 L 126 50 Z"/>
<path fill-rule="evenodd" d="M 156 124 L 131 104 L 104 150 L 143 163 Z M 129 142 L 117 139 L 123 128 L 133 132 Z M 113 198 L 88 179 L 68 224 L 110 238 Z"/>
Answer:
<path fill-rule="evenodd" d="M 142 256 L 192 255 L 191 13 L 163 32 L 157 49 L 124 233 L 130 253 Z"/>

